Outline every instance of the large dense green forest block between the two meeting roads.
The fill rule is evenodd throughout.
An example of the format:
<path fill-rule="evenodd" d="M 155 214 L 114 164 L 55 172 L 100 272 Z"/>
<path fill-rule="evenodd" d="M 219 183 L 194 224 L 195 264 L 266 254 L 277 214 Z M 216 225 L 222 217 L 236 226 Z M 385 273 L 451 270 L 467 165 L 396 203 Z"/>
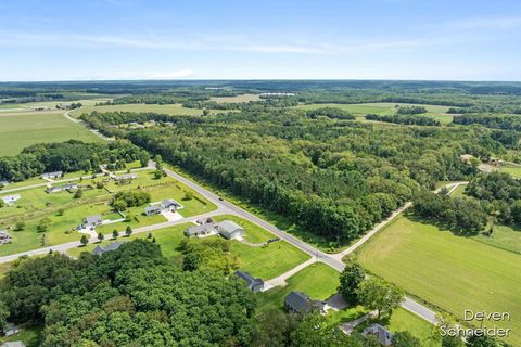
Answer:
<path fill-rule="evenodd" d="M 364 233 L 421 188 L 475 175 L 461 154 L 505 151 L 484 128 L 389 128 L 310 118 L 289 108 L 169 116 L 175 127 L 145 130 L 115 127 L 139 117 L 165 116 L 93 113 L 82 119 L 341 243 Z"/>

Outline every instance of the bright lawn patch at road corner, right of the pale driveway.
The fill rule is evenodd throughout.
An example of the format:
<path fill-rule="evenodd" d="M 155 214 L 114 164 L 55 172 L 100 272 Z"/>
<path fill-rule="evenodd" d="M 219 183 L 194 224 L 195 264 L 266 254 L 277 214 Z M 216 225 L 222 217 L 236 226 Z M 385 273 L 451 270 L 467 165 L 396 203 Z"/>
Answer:
<path fill-rule="evenodd" d="M 318 262 L 298 271 L 287 280 L 288 285 L 275 287 L 257 294 L 257 312 L 282 309 L 285 296 L 292 291 L 304 292 L 309 297 L 326 300 L 336 293 L 339 272 L 329 266 Z"/>

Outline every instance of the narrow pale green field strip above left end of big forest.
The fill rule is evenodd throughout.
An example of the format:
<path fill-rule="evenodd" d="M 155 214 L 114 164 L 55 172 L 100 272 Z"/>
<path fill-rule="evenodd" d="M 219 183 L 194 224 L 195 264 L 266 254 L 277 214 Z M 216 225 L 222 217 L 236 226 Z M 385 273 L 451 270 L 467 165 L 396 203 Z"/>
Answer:
<path fill-rule="evenodd" d="M 72 111 L 71 115 L 74 117 L 79 117 L 84 113 L 91 113 L 93 111 L 155 112 L 155 113 L 164 113 L 169 115 L 188 115 L 188 116 L 200 116 L 203 114 L 202 110 L 182 107 L 180 104 L 169 104 L 169 105 L 123 104 L 123 105 L 84 106 L 81 108 Z M 223 112 L 223 111 L 217 111 L 217 112 Z"/>

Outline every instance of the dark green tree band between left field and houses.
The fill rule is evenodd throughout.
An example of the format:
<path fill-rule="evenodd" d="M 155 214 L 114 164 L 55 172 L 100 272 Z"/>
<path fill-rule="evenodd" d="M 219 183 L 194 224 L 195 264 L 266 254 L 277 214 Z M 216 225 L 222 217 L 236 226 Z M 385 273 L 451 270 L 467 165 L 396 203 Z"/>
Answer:
<path fill-rule="evenodd" d="M 141 160 L 144 166 L 149 154 L 126 140 L 109 143 L 69 140 L 34 144 L 18 155 L 0 157 L 0 180 L 16 182 L 49 171 L 98 170 L 100 164 L 118 160 Z"/>

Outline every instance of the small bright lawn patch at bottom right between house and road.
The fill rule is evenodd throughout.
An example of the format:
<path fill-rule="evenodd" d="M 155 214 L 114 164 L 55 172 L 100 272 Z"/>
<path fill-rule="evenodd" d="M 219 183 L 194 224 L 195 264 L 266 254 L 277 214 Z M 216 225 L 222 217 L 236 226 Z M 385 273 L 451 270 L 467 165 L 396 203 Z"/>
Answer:
<path fill-rule="evenodd" d="M 440 347 L 442 345 L 441 337 L 436 335 L 431 323 L 404 308 L 395 309 L 385 325 L 393 333 L 409 332 L 420 339 L 422 347 Z"/>

